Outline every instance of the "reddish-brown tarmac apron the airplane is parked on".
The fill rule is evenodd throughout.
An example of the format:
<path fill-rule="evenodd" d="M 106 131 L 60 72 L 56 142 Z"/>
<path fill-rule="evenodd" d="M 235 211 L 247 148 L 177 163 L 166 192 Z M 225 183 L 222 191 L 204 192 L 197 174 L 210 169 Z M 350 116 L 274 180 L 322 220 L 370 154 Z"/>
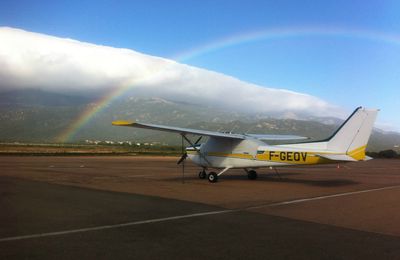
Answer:
<path fill-rule="evenodd" d="M 0 157 L 0 259 L 400 259 L 400 160 L 232 170 Z"/>

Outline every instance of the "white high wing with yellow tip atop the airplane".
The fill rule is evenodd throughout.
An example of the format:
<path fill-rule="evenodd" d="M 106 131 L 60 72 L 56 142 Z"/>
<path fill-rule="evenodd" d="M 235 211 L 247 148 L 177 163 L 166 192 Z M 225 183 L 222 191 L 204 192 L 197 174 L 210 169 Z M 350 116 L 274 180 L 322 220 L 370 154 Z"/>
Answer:
<path fill-rule="evenodd" d="M 211 136 L 211 137 L 221 137 L 221 138 L 232 138 L 232 139 L 248 139 L 255 138 L 259 140 L 304 140 L 308 139 L 308 137 L 296 136 L 296 135 L 262 135 L 262 134 L 234 134 L 234 133 L 221 133 L 216 131 L 208 131 L 208 130 L 198 130 L 198 129 L 190 129 L 176 126 L 165 126 L 165 125 L 156 125 L 156 124 L 147 124 L 147 123 L 138 123 L 134 121 L 114 121 L 112 122 L 115 126 L 130 126 L 136 128 L 144 128 L 165 132 L 173 132 L 178 134 L 194 134 L 194 135 L 202 135 L 202 136 Z"/>

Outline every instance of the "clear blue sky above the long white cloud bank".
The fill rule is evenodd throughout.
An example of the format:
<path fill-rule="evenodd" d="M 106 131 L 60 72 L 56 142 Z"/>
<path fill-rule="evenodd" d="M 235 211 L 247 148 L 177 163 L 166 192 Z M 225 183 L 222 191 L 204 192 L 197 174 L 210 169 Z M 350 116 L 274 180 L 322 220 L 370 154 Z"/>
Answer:
<path fill-rule="evenodd" d="M 400 131 L 399 1 L 1 1 L 0 26 L 381 109 Z M 251 104 L 249 104 L 251 105 Z"/>

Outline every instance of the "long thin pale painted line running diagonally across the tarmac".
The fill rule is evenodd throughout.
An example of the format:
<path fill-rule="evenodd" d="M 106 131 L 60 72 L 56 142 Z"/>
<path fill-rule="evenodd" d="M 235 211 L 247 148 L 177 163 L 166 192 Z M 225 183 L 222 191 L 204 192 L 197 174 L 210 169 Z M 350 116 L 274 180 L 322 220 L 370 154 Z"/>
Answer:
<path fill-rule="evenodd" d="M 24 236 L 5 237 L 5 238 L 0 238 L 0 242 L 24 240 L 24 239 L 31 239 L 31 238 L 60 236 L 60 235 L 83 233 L 83 232 L 89 232 L 89 231 L 98 231 L 98 230 L 114 229 L 114 228 L 121 228 L 121 227 L 129 227 L 129 226 L 142 225 L 142 224 L 151 224 L 151 223 L 171 221 L 171 220 L 177 220 L 177 219 L 194 218 L 194 217 L 201 217 L 201 216 L 208 216 L 208 215 L 227 214 L 227 213 L 238 212 L 238 211 L 246 211 L 246 210 L 252 210 L 252 209 L 260 209 L 260 208 L 267 208 L 267 207 L 274 207 L 274 206 L 297 204 L 297 203 L 303 203 L 303 202 L 308 202 L 308 201 L 315 201 L 315 200 L 322 200 L 322 199 L 328 199 L 328 198 L 350 196 L 350 195 L 355 195 L 355 194 L 374 192 L 374 191 L 382 191 L 382 190 L 389 190 L 389 189 L 396 189 L 396 188 L 400 188 L 400 185 L 383 187 L 383 188 L 376 188 L 376 189 L 369 189 L 369 190 L 360 190 L 360 191 L 337 193 L 337 194 L 326 195 L 326 196 L 318 196 L 318 197 L 312 197 L 312 198 L 304 198 L 304 199 L 282 201 L 282 202 L 277 202 L 277 203 L 270 203 L 270 204 L 264 204 L 264 205 L 259 205 L 259 206 L 239 208 L 239 209 L 228 209 L 228 210 L 219 210 L 219 211 L 206 211 L 206 212 L 200 212 L 200 213 L 194 213 L 194 214 L 188 214 L 188 215 L 180 215 L 180 216 L 173 216 L 173 217 L 166 217 L 166 218 L 148 219 L 148 220 L 141 220 L 141 221 L 134 221 L 134 222 L 115 224 L 115 225 L 104 225 L 104 226 L 97 226 L 97 227 L 71 229 L 71 230 L 40 233 L 40 234 L 32 234 L 32 235 L 24 235 Z"/>

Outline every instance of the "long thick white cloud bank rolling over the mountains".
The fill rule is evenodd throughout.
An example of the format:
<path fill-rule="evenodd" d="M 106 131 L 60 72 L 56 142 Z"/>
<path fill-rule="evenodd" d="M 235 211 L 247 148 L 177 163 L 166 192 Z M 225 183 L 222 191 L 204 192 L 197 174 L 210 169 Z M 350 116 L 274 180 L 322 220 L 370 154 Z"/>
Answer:
<path fill-rule="evenodd" d="M 317 97 L 267 88 L 133 50 L 0 28 L 0 90 L 41 88 L 63 93 L 110 92 L 129 85 L 157 96 L 251 112 L 342 115 Z"/>

